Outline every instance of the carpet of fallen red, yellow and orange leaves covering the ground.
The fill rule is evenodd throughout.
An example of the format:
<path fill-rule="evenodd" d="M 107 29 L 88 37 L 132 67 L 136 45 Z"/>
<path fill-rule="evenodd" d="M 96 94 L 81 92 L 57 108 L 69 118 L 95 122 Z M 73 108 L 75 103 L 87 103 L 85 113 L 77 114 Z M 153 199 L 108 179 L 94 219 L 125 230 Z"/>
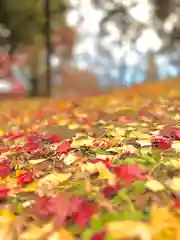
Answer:
<path fill-rule="evenodd" d="M 179 240 L 180 97 L 0 106 L 0 239 Z"/>

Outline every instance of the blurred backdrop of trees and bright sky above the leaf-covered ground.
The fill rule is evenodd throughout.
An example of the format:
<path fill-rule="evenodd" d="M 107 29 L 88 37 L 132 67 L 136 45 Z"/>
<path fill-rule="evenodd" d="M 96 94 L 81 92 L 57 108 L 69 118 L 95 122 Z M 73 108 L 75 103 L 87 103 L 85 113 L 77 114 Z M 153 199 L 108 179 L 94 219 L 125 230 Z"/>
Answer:
<path fill-rule="evenodd" d="M 179 75 L 180 0 L 0 1 L 2 97 L 87 96 Z"/>

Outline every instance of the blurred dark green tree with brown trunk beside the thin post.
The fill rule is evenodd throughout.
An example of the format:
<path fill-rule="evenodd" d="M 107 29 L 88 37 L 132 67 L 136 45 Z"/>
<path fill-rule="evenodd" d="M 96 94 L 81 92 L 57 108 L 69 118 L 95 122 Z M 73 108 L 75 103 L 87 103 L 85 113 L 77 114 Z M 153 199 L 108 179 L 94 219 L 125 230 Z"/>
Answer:
<path fill-rule="evenodd" d="M 49 2 L 53 31 L 56 26 L 61 27 L 65 24 L 66 5 L 61 0 Z M 21 49 L 21 43 L 34 46 L 33 50 L 28 52 L 31 58 L 32 95 L 38 94 L 39 56 L 44 49 L 44 36 L 47 33 L 44 5 L 44 0 L 0 0 L 0 23 L 6 25 L 11 32 L 12 49 Z"/>

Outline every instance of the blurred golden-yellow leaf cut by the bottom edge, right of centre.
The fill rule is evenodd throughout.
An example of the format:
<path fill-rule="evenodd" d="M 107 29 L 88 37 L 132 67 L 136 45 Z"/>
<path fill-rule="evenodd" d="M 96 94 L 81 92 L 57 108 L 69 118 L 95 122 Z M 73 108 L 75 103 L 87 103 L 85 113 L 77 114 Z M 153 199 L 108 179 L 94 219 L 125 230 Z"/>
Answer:
<path fill-rule="evenodd" d="M 114 239 L 135 238 L 152 240 L 151 230 L 145 223 L 135 221 L 112 221 L 107 224 L 107 232 Z"/>

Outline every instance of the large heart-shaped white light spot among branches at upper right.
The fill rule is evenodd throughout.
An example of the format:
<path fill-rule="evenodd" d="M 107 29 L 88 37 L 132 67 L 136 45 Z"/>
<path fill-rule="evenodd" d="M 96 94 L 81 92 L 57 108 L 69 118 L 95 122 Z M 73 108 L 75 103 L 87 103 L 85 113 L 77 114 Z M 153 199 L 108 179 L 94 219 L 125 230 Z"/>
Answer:
<path fill-rule="evenodd" d="M 139 52 L 146 53 L 149 50 L 158 51 L 162 47 L 162 40 L 153 29 L 146 29 L 136 42 Z"/>

